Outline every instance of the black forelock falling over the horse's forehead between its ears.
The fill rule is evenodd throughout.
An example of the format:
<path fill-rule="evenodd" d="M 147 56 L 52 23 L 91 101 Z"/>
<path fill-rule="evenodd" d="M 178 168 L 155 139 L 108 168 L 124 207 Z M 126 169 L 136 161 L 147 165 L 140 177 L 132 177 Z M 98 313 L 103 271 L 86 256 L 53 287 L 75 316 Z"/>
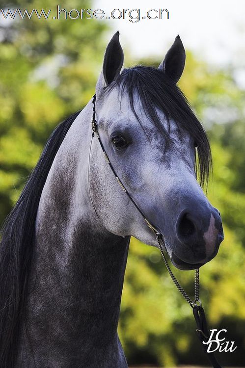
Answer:
<path fill-rule="evenodd" d="M 169 120 L 174 120 L 180 131 L 184 129 L 189 132 L 197 147 L 200 184 L 207 184 L 212 165 L 209 141 L 204 128 L 176 84 L 160 69 L 136 66 L 124 69 L 108 89 L 115 86 L 119 87 L 120 94 L 125 91 L 128 93 L 131 108 L 140 123 L 135 110 L 135 99 L 139 98 L 146 115 L 163 133 L 167 143 L 170 143 Z M 168 121 L 168 130 L 163 127 L 156 107 L 163 111 Z"/>

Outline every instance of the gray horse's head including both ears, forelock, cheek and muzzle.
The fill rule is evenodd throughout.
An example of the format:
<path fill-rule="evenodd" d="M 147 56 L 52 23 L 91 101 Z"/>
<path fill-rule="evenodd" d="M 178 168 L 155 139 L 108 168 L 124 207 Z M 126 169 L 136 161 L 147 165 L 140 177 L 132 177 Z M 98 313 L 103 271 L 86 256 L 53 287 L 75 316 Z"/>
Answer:
<path fill-rule="evenodd" d="M 118 36 L 106 49 L 95 117 L 108 160 L 129 196 L 95 140 L 89 168 L 94 209 L 109 232 L 157 246 L 138 207 L 163 234 L 176 267 L 200 267 L 218 253 L 223 230 L 219 211 L 202 190 L 211 166 L 207 135 L 176 86 L 185 66 L 183 44 L 177 36 L 158 69 L 136 66 L 121 72 Z"/>

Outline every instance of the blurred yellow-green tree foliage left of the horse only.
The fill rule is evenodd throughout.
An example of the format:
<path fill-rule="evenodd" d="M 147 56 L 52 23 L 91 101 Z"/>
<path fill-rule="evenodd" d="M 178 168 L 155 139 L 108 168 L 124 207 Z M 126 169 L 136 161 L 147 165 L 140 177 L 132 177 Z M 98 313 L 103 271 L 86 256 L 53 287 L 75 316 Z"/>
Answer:
<path fill-rule="evenodd" d="M 62 1 L 69 11 L 81 1 Z M 1 5 L 2 6 L 2 5 Z M 4 9 L 52 9 L 48 20 L 0 22 L 0 223 L 20 194 L 54 127 L 94 93 L 107 29 L 99 20 L 53 20 L 50 0 L 13 0 Z M 82 8 L 91 7 L 83 1 Z M 61 8 L 61 6 L 60 6 Z M 74 14 L 73 14 L 74 16 Z"/>

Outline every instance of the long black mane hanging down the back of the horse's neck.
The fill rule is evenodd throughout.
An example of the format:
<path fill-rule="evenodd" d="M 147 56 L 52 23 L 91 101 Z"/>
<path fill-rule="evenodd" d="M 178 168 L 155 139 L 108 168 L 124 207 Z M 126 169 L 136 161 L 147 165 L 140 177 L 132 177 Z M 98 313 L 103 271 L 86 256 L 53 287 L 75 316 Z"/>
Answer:
<path fill-rule="evenodd" d="M 54 157 L 80 111 L 63 121 L 48 139 L 27 184 L 7 217 L 0 242 L 0 367 L 12 368 L 25 316 L 35 220 L 41 193 Z"/>

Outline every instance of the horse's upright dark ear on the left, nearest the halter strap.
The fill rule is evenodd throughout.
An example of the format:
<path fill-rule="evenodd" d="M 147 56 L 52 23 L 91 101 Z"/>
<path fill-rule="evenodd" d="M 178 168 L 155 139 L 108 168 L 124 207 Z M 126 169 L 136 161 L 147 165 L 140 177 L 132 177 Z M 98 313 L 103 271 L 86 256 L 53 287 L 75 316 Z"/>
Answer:
<path fill-rule="evenodd" d="M 120 73 L 123 66 L 123 50 L 119 42 L 117 31 L 111 38 L 104 56 L 103 69 L 96 84 L 96 92 L 108 86 Z"/>

